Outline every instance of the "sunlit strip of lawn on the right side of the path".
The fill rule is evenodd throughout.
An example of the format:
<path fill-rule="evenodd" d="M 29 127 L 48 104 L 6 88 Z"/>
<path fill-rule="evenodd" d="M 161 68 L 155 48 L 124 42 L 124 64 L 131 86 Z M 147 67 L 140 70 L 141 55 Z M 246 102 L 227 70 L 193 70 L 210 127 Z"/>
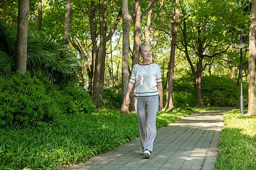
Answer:
<path fill-rule="evenodd" d="M 216 169 L 256 169 L 256 115 L 241 116 L 233 109 L 224 118 Z"/>

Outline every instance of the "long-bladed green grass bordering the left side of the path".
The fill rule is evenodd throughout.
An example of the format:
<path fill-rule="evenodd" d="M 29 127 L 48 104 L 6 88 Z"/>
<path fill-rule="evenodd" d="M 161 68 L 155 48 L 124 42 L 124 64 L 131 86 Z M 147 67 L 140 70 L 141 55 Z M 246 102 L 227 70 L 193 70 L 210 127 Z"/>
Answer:
<path fill-rule="evenodd" d="M 157 128 L 188 116 L 193 109 L 159 112 Z M 139 136 L 135 113 L 102 109 L 63 116 L 57 125 L 0 129 L 0 169 L 63 169 L 133 141 Z"/>

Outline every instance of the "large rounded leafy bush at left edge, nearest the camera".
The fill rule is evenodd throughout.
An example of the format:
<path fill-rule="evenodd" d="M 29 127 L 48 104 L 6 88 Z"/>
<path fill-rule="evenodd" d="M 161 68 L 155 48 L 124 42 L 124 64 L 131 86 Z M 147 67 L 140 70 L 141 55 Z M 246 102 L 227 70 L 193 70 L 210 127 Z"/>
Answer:
<path fill-rule="evenodd" d="M 60 115 L 56 101 L 36 76 L 6 75 L 0 77 L 0 82 L 0 125 L 39 125 Z"/>

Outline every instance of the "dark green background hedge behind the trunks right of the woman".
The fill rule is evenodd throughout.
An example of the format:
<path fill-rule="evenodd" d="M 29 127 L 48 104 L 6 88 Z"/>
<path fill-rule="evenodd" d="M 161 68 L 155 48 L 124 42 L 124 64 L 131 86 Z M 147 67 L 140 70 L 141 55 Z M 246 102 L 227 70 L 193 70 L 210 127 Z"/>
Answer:
<path fill-rule="evenodd" d="M 248 103 L 248 85 L 243 82 L 243 97 Z M 240 86 L 229 78 L 219 76 L 201 77 L 201 101 L 207 106 L 237 107 L 240 99 Z M 195 107 L 195 87 L 192 76 L 174 80 L 174 105 L 176 107 Z"/>

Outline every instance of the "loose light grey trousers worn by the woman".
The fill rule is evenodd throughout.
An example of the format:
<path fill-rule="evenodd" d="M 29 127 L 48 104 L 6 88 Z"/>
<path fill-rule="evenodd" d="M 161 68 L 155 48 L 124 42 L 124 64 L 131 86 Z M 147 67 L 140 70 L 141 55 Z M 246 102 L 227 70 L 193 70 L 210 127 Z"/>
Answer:
<path fill-rule="evenodd" d="M 134 97 L 135 111 L 139 123 L 139 137 L 144 150 L 152 152 L 156 135 L 156 113 L 158 112 L 159 97 Z"/>

